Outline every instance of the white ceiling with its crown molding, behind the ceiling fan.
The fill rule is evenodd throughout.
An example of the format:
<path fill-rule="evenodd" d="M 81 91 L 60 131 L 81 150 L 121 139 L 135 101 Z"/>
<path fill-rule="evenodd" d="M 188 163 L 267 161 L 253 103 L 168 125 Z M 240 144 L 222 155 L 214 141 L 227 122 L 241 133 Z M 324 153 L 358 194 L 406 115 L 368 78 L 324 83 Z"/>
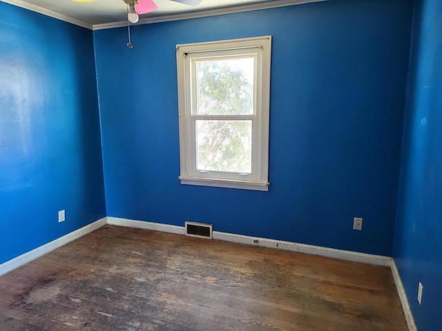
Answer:
<path fill-rule="evenodd" d="M 122 0 L 95 0 L 73 2 L 72 0 L 0 0 L 16 6 L 47 14 L 90 29 L 124 26 L 127 21 L 126 4 Z M 211 16 L 262 8 L 291 6 L 296 3 L 324 0 L 202 0 L 192 7 L 170 0 L 154 0 L 155 12 L 140 15 L 139 23 L 170 21 L 191 17 Z"/>

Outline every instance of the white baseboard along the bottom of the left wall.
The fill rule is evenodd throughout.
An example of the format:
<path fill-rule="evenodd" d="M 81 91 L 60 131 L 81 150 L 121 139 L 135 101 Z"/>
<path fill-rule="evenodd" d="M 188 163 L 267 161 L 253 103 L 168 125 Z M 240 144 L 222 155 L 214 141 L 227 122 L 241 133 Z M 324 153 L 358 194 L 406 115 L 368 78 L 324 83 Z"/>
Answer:
<path fill-rule="evenodd" d="M 52 252 L 52 250 L 56 250 L 57 248 L 66 245 L 66 243 L 70 243 L 70 241 L 83 237 L 85 234 L 93 232 L 98 228 L 101 228 L 103 225 L 106 225 L 106 223 L 107 220 L 106 217 L 104 217 L 98 221 L 95 221 L 94 223 L 84 226 L 83 228 L 70 232 L 59 239 L 55 239 L 54 241 L 50 241 L 50 243 L 46 243 L 45 245 L 35 248 L 35 250 L 31 250 L 30 252 L 21 254 L 19 257 L 6 261 L 5 263 L 0 264 L 0 276 L 19 268 L 23 264 L 35 260 L 48 252 Z"/>

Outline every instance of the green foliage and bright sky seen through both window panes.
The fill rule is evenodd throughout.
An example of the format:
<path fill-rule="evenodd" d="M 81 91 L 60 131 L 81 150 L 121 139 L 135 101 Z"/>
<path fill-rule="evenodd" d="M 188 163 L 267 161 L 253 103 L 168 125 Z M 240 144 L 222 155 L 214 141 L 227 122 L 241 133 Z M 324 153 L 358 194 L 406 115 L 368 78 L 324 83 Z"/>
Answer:
<path fill-rule="evenodd" d="M 253 114 L 254 59 L 197 63 L 196 114 Z M 224 172 L 251 172 L 250 119 L 198 119 L 197 168 Z"/>

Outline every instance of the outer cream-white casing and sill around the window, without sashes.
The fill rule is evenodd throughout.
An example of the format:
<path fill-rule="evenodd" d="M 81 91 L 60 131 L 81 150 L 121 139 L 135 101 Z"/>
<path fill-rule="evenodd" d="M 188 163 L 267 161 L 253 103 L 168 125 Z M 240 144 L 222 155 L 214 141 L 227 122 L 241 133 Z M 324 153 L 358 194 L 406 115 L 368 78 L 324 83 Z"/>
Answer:
<path fill-rule="evenodd" d="M 258 130 L 259 134 L 258 139 L 254 140 L 255 143 L 257 140 L 259 143 L 256 152 L 259 157 L 258 159 L 253 159 L 255 162 L 252 163 L 252 169 L 258 168 L 258 171 L 255 173 L 256 176 L 251 180 L 212 178 L 210 174 L 193 170 L 193 163 L 189 159 L 189 157 L 193 156 L 192 149 L 195 146 L 193 146 L 191 142 L 192 139 L 189 139 L 189 134 L 193 134 L 191 123 L 194 120 L 191 119 L 191 100 L 189 98 L 191 91 L 188 90 L 190 79 L 187 77 L 188 72 L 190 72 L 187 67 L 191 66 L 191 59 L 190 57 L 186 59 L 186 57 L 188 54 L 192 56 L 193 53 L 206 55 L 210 52 L 229 50 L 238 50 L 241 52 L 247 49 L 251 49 L 251 53 L 259 53 L 257 57 L 258 61 L 256 61 L 256 73 L 258 75 L 256 78 L 258 82 L 256 84 L 256 113 L 253 114 L 253 116 L 256 116 L 256 123 L 259 128 L 252 129 L 252 134 L 253 130 Z M 258 50 L 258 52 L 256 50 Z M 271 36 L 177 45 L 178 114 L 180 121 L 180 177 L 178 178 L 182 184 L 245 190 L 269 190 L 270 55 Z"/>

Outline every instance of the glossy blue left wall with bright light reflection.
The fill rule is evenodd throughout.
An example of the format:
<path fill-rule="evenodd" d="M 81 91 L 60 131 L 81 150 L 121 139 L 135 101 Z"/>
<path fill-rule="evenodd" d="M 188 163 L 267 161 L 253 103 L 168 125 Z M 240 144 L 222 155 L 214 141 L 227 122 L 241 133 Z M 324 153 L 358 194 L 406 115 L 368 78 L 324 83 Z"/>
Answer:
<path fill-rule="evenodd" d="M 0 263 L 106 216 L 101 155 L 93 33 L 0 2 Z"/>

